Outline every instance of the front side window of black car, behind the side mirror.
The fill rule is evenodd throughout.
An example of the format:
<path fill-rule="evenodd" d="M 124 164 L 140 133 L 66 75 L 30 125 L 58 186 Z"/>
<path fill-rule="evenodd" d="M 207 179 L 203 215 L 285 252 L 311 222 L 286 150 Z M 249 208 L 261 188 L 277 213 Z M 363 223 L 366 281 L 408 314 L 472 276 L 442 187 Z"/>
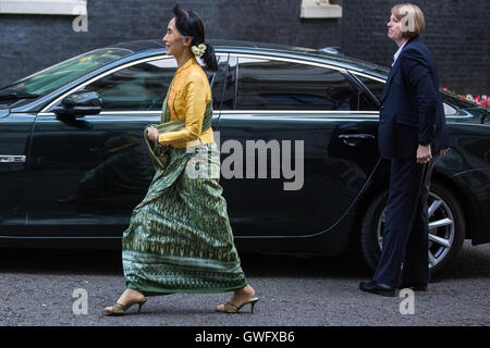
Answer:
<path fill-rule="evenodd" d="M 102 111 L 160 111 L 175 71 L 176 61 L 164 58 L 117 71 L 85 89 L 101 97 Z M 211 72 L 206 74 L 211 85 L 219 79 Z M 219 88 L 219 83 L 216 86 Z M 221 90 L 216 92 L 217 98 Z M 215 89 L 212 91 L 215 97 Z M 213 99 L 216 103 L 219 104 L 219 99 Z"/>

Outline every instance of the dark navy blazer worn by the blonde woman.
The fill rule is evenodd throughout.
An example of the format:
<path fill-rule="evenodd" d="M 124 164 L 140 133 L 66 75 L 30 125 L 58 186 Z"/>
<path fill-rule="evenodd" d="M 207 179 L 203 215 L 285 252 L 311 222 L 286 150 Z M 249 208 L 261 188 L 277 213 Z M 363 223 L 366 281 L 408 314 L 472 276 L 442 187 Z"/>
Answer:
<path fill-rule="evenodd" d="M 416 37 L 406 42 L 384 85 L 378 145 L 383 158 L 415 159 L 419 144 L 430 144 L 432 156 L 450 148 L 436 64 Z"/>

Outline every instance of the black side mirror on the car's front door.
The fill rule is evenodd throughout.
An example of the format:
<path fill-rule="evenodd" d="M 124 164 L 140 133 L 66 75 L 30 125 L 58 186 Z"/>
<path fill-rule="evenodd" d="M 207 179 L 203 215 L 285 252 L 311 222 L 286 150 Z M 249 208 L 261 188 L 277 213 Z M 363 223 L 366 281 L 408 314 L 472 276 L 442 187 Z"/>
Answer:
<path fill-rule="evenodd" d="M 59 116 L 84 116 L 100 113 L 102 99 L 95 91 L 78 90 L 61 100 L 61 104 L 54 107 L 53 112 Z"/>

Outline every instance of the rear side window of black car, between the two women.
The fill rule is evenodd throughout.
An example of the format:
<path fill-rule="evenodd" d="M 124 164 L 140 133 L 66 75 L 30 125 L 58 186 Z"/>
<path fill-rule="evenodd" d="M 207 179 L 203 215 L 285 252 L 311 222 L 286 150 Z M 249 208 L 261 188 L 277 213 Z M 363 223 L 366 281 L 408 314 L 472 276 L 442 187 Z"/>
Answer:
<path fill-rule="evenodd" d="M 358 108 L 358 92 L 344 75 L 308 64 L 238 57 L 236 110 Z"/>

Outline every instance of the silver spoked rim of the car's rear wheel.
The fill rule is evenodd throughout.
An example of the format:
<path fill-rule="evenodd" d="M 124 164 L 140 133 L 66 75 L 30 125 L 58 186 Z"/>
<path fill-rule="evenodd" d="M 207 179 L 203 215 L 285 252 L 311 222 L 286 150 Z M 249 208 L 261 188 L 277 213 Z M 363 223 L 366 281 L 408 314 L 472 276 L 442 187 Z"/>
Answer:
<path fill-rule="evenodd" d="M 454 214 L 449 204 L 434 192 L 429 192 L 429 269 L 437 266 L 448 256 L 454 241 Z M 377 239 L 380 250 L 383 246 L 383 209 L 377 224 Z"/>

